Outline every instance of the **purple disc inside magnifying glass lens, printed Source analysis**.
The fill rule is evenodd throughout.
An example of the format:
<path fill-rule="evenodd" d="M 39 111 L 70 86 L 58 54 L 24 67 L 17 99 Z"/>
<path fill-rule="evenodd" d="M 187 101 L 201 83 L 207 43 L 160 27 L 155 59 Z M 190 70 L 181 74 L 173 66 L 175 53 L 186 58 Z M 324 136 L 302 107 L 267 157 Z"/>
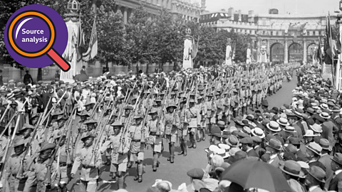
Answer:
<path fill-rule="evenodd" d="M 14 42 L 26 52 L 37 52 L 48 44 L 50 34 L 50 28 L 45 21 L 36 16 L 28 16 L 16 24 Z"/>

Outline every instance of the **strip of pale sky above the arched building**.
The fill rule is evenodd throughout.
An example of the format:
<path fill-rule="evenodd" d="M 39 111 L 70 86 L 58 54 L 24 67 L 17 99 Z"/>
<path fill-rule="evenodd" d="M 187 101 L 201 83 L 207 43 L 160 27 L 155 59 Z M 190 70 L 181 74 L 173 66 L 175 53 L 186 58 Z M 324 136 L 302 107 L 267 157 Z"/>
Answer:
<path fill-rule="evenodd" d="M 201 0 L 197 1 L 199 4 Z M 233 7 L 235 11 L 241 9 L 242 14 L 254 10 L 254 14 L 267 14 L 271 8 L 278 9 L 279 14 L 328 14 L 328 11 L 339 11 L 339 0 L 207 0 L 207 11 L 228 10 Z"/>

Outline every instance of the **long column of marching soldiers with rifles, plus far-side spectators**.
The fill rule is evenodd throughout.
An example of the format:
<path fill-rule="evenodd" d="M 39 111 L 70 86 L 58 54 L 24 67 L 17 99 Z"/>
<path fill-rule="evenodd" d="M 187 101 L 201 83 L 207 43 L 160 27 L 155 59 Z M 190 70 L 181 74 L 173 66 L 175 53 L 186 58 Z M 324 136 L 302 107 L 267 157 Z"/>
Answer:
<path fill-rule="evenodd" d="M 81 191 L 96 191 L 100 166 L 110 166 L 123 188 L 135 165 L 134 180 L 141 183 L 147 145 L 153 171 L 162 151 L 173 164 L 177 142 L 179 155 L 187 156 L 213 127 L 221 133 L 233 117 L 257 109 L 281 88 L 284 69 L 202 68 L 73 84 L 10 80 L 0 89 L 2 187 L 68 191 L 80 166 Z"/>

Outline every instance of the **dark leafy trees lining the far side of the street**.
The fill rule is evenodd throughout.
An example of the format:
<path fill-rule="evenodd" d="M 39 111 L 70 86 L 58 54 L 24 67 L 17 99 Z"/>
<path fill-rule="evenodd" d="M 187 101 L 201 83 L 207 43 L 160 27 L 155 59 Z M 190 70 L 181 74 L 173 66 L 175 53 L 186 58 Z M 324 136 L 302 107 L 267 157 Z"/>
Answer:
<path fill-rule="evenodd" d="M 246 60 L 247 43 L 251 38 L 246 35 L 200 25 L 194 21 L 171 14 L 167 9 L 160 10 L 155 18 L 150 18 L 144 6 L 133 11 L 129 23 L 125 26 L 120 11 L 115 13 L 115 0 L 98 1 L 96 13 L 93 1 L 80 1 L 81 26 L 85 33 L 86 46 L 90 40 L 93 21 L 96 14 L 98 32 L 98 55 L 95 60 L 101 63 L 113 62 L 118 65 L 130 63 L 181 62 L 185 30 L 190 28 L 195 43 L 198 43 L 196 61 L 222 63 L 225 57 L 227 38 L 236 42 L 235 62 Z M 26 0 L 0 1 L 0 25 L 2 31 L 11 14 L 28 4 L 44 4 L 55 9 L 61 16 L 68 13 L 68 0 Z M 4 46 L 4 33 L 0 33 L 0 57 L 2 63 L 15 63 Z"/>

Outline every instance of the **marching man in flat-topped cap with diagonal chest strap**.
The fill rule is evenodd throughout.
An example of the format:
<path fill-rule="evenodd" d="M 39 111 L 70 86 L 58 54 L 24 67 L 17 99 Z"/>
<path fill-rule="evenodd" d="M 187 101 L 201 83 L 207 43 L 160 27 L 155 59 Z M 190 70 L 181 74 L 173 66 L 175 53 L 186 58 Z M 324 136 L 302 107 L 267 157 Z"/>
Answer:
<path fill-rule="evenodd" d="M 188 130 L 189 130 L 189 139 L 190 146 L 189 148 L 196 149 L 196 132 L 197 128 L 201 127 L 201 116 L 199 114 L 199 110 L 195 107 L 195 100 L 189 101 L 189 110 L 187 110 L 187 118 L 190 119 Z"/>

